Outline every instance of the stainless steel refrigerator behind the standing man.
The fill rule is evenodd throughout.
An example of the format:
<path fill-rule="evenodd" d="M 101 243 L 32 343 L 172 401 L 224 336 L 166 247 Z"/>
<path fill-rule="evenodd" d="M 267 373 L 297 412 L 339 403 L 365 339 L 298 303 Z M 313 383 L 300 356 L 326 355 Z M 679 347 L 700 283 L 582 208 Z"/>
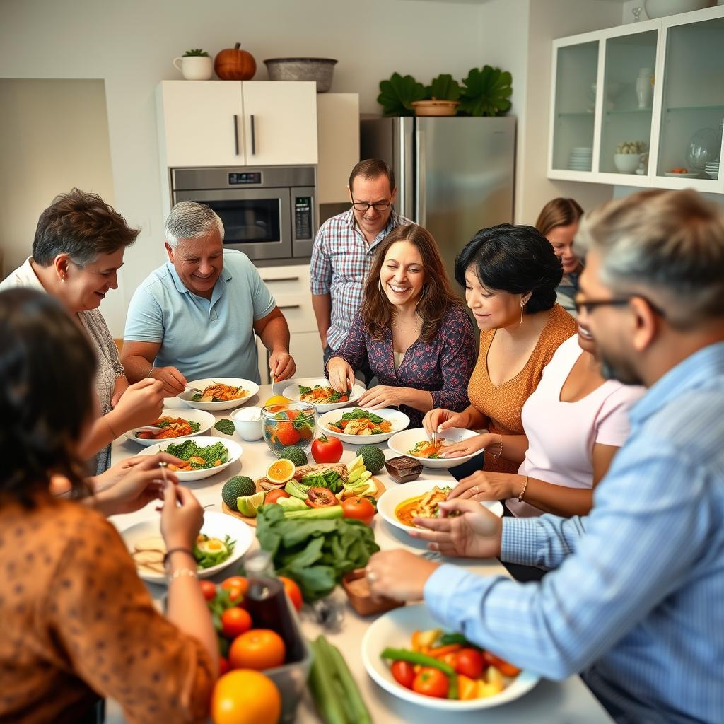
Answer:
<path fill-rule="evenodd" d="M 513 223 L 515 118 L 363 117 L 360 130 L 361 158 L 395 170 L 395 209 L 432 233 L 451 281 L 477 230 Z"/>

